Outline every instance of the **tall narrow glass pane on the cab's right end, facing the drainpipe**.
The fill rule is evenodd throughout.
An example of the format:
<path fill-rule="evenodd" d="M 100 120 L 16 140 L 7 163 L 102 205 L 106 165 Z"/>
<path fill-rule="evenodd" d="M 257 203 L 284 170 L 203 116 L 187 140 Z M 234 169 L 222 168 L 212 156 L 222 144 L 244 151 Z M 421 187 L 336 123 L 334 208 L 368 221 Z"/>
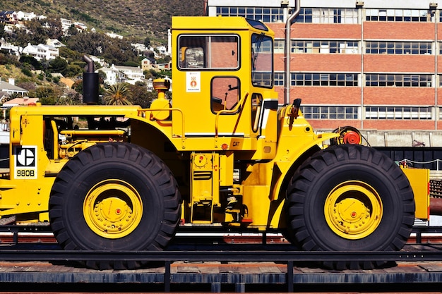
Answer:
<path fill-rule="evenodd" d="M 273 87 L 273 39 L 264 33 L 251 37 L 251 80 L 256 87 Z"/>

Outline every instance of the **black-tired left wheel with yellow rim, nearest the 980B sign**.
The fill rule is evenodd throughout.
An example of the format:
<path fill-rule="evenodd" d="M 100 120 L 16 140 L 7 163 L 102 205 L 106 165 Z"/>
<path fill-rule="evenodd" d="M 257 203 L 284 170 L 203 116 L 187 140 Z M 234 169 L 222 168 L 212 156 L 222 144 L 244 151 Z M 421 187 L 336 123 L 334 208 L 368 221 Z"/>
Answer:
<path fill-rule="evenodd" d="M 181 216 L 177 182 L 137 145 L 104 143 L 83 150 L 56 177 L 49 219 L 66 250 L 162 250 Z M 86 262 L 94 269 L 134 269 L 140 262 Z"/>

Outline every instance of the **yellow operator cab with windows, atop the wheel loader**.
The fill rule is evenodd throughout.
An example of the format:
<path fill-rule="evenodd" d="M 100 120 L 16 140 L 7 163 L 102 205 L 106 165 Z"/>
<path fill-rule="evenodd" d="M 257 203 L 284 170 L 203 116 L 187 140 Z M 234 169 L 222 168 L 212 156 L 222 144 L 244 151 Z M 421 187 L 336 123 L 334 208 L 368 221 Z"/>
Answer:
<path fill-rule="evenodd" d="M 276 101 L 271 105 L 277 109 L 273 32 L 240 17 L 174 17 L 172 27 L 177 40 L 172 104 L 186 117 L 186 137 L 262 135 L 264 100 Z"/>

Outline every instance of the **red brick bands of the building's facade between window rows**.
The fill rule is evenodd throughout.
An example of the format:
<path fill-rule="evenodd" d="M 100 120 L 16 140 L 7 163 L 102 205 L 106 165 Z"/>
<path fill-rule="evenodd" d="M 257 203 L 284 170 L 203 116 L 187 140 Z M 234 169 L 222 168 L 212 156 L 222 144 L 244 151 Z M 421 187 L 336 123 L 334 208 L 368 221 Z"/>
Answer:
<path fill-rule="evenodd" d="M 275 39 L 284 39 L 285 24 L 268 23 Z M 437 36 L 436 37 L 436 32 Z M 354 125 L 377 130 L 440 130 L 437 106 L 442 106 L 442 56 L 438 56 L 435 40 L 442 42 L 442 24 L 419 22 L 364 21 L 361 25 L 295 23 L 292 40 L 342 40 L 359 44 L 359 54 L 292 53 L 291 73 L 357 73 L 357 86 L 291 86 L 291 99 L 302 98 L 302 105 L 357 106 L 359 119 L 313 119 L 314 128 L 335 128 Z M 431 42 L 431 54 L 365 54 L 366 42 Z M 437 57 L 436 57 L 437 56 Z M 283 54 L 275 54 L 275 71 L 284 71 Z M 420 87 L 368 86 L 366 75 L 430 75 L 429 85 Z M 280 103 L 284 103 L 282 87 Z M 432 107 L 431 119 L 366 119 L 366 106 Z M 436 108 L 436 109 L 435 109 Z M 435 121 L 436 119 L 436 121 Z"/>

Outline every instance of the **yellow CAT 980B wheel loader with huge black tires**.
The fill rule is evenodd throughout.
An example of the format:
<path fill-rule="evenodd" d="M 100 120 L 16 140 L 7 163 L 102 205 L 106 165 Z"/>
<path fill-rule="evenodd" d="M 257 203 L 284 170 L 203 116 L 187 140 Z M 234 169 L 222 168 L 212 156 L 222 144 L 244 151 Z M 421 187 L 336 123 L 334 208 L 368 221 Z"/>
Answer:
<path fill-rule="evenodd" d="M 163 250 L 180 225 L 271 229 L 300 250 L 400 250 L 429 217 L 429 172 L 359 144 L 354 128 L 315 133 L 300 99 L 279 106 L 273 36 L 241 17 L 174 17 L 172 102 L 160 79 L 148 109 L 97 105 L 86 57 L 90 105 L 13 107 L 2 223 L 49 222 L 66 250 Z"/>

